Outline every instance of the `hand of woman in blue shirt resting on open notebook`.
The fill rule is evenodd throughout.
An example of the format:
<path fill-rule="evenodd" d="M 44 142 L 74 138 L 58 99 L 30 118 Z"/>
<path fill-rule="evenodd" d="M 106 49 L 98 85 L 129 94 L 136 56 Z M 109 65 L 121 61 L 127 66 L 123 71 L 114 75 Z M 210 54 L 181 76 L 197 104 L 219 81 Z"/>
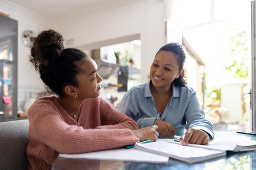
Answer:
<path fill-rule="evenodd" d="M 196 144 L 196 145 L 207 145 L 210 141 L 209 135 L 199 129 L 189 129 L 180 138 L 182 145 L 186 146 L 187 143 Z"/>

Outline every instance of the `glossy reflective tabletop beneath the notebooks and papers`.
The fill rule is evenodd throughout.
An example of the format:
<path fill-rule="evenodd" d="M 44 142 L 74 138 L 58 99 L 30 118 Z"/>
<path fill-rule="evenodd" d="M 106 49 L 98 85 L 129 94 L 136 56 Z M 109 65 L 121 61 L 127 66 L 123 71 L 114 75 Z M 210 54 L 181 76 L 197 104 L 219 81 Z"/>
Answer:
<path fill-rule="evenodd" d="M 235 132 L 215 132 L 218 137 L 244 135 Z M 256 136 L 245 135 L 251 140 L 256 140 Z M 54 170 L 63 169 L 255 169 L 256 170 L 256 150 L 247 152 L 228 152 L 226 157 L 207 160 L 197 164 L 187 164 L 179 160 L 169 159 L 165 164 L 137 163 L 110 160 L 89 160 L 89 159 L 69 159 L 58 157 L 52 166 Z"/>

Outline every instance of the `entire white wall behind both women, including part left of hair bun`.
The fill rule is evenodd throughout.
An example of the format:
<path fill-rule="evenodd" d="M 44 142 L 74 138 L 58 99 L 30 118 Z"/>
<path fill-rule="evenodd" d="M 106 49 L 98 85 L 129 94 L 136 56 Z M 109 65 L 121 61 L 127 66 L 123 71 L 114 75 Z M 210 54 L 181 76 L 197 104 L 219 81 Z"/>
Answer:
<path fill-rule="evenodd" d="M 28 62 L 29 48 L 21 41 L 21 33 L 26 29 L 33 30 L 35 33 L 48 28 L 56 29 L 66 40 L 74 39 L 74 43 L 69 47 L 84 48 L 82 50 L 86 50 L 86 46 L 91 44 L 98 48 L 97 44 L 101 41 L 139 34 L 142 82 L 148 80 L 150 64 L 157 50 L 166 43 L 162 0 L 140 1 L 119 8 L 86 13 L 76 18 L 65 17 L 57 22 L 45 19 L 20 6 L 6 3 L 4 0 L 0 0 L 0 11 L 10 14 L 10 18 L 18 21 L 19 106 L 22 98 L 27 97 L 21 94 L 28 95 L 29 89 L 43 87 L 39 75 Z"/>

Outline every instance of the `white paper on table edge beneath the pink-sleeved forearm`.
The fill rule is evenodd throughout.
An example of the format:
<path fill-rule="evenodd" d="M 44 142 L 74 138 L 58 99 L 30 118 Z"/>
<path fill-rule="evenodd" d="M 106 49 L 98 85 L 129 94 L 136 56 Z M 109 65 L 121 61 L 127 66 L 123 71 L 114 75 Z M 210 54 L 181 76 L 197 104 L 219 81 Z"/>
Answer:
<path fill-rule="evenodd" d="M 59 157 L 98 160 L 122 160 L 145 163 L 167 163 L 169 160 L 169 157 L 167 156 L 161 156 L 135 148 L 111 149 L 97 152 L 89 152 L 84 154 L 60 154 Z"/>

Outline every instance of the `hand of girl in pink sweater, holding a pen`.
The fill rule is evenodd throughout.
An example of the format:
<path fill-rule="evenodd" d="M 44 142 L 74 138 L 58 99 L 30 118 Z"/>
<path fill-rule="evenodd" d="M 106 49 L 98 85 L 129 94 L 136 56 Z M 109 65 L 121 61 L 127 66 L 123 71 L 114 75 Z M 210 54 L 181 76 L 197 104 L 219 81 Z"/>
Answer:
<path fill-rule="evenodd" d="M 152 142 L 154 140 L 157 140 L 159 133 L 156 131 L 157 130 L 157 125 L 154 126 L 148 126 L 146 128 L 141 128 L 138 130 L 133 130 L 133 134 L 135 137 L 139 138 L 140 142 L 145 141 L 145 140 L 151 140 Z"/>

